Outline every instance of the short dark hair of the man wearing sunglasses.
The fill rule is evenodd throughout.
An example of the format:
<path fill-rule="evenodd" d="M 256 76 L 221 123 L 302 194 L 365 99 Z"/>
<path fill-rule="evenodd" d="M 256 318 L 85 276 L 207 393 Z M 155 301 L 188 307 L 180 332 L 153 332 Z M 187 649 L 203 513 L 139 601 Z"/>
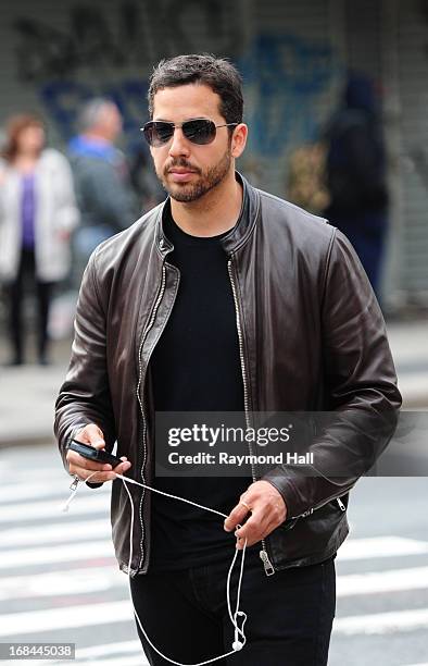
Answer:
<path fill-rule="evenodd" d="M 161 60 L 150 77 L 150 118 L 153 118 L 153 100 L 159 90 L 193 83 L 210 86 L 218 95 L 219 112 L 227 123 L 242 122 L 241 75 L 228 60 L 210 53 L 191 53 Z"/>

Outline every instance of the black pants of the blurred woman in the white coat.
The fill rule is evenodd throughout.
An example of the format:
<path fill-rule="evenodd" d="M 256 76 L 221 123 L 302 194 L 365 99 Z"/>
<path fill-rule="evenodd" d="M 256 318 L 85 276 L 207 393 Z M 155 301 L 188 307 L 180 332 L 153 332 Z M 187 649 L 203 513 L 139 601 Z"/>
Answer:
<path fill-rule="evenodd" d="M 23 301 L 28 284 L 33 282 L 37 301 L 37 353 L 46 357 L 48 345 L 48 316 L 52 294 L 51 282 L 36 278 L 35 256 L 32 249 L 23 248 L 16 280 L 7 287 L 9 299 L 9 331 L 16 362 L 22 362 L 24 353 Z"/>

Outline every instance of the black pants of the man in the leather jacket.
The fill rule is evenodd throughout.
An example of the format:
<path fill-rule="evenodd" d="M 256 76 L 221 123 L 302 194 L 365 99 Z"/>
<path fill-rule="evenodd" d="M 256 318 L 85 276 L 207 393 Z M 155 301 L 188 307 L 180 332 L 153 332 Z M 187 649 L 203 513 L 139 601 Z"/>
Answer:
<path fill-rule="evenodd" d="M 140 575 L 131 580 L 134 604 L 152 643 L 163 654 L 196 664 L 231 650 L 234 628 L 226 606 L 228 564 Z M 238 580 L 232 576 L 232 608 Z M 325 666 L 336 608 L 333 559 L 266 577 L 248 557 L 240 607 L 248 614 L 247 644 L 219 664 L 230 666 Z M 138 626 L 137 626 L 138 629 Z M 140 640 L 152 666 L 165 666 Z"/>

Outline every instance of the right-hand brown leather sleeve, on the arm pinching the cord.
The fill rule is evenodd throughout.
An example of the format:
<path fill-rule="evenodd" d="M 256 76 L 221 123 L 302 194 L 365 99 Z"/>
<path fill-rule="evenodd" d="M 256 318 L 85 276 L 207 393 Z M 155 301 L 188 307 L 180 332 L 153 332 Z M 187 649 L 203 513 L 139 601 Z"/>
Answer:
<path fill-rule="evenodd" d="M 288 518 L 345 494 L 388 445 L 401 406 L 379 305 L 355 251 L 337 230 L 320 318 L 330 411 L 306 449 L 314 465 L 279 466 L 263 477 L 281 493 Z"/>

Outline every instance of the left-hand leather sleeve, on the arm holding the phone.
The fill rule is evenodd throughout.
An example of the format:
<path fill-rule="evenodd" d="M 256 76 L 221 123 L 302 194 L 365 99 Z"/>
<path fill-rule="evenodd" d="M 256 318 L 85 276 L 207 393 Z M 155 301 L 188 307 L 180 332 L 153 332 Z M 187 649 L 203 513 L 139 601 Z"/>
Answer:
<path fill-rule="evenodd" d="M 106 369 L 105 316 L 96 275 L 97 250 L 84 273 L 74 324 L 68 371 L 55 403 L 54 433 L 65 469 L 65 446 L 75 432 L 96 423 L 103 432 L 105 448 L 116 440 Z"/>

